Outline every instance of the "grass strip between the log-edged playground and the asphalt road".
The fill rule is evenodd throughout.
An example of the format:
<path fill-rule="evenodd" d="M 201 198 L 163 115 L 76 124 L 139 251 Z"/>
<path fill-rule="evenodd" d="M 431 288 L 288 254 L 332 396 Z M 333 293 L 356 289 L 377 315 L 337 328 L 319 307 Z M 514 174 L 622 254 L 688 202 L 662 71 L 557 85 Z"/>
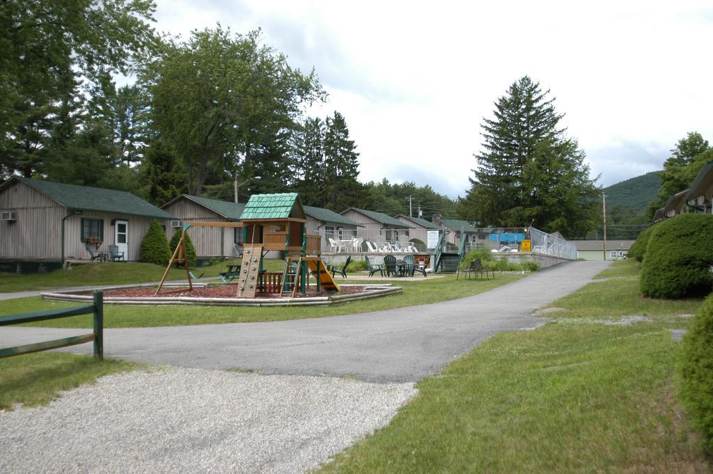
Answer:
<path fill-rule="evenodd" d="M 104 306 L 104 326 L 146 327 L 183 326 L 186 324 L 216 324 L 232 322 L 284 321 L 287 319 L 317 318 L 338 314 L 355 314 L 381 309 L 399 308 L 468 297 L 486 292 L 502 284 L 522 278 L 520 274 L 498 274 L 495 280 L 458 279 L 453 275 L 419 282 L 398 282 L 401 294 L 330 306 Z M 374 282 L 379 280 L 374 279 Z M 363 281 L 359 283 L 364 283 Z M 393 283 L 393 281 L 391 282 Z M 73 306 L 71 303 L 44 301 L 40 297 L 10 299 L 0 306 L 0 316 L 41 309 Z M 91 315 L 73 316 L 29 324 L 43 327 L 91 327 Z"/>

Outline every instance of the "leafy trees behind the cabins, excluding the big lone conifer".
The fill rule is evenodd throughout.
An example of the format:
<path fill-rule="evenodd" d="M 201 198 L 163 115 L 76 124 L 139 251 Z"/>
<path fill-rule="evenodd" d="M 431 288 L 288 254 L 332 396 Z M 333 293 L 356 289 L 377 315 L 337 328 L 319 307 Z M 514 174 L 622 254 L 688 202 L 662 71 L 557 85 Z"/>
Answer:
<path fill-rule="evenodd" d="M 393 207 L 400 186 L 359 182 L 344 115 L 317 73 L 292 68 L 260 31 L 158 34 L 147 0 L 0 3 L 0 177 L 127 190 L 156 205 L 182 192 L 245 201 L 299 192 L 310 205 Z M 118 86 L 119 75 L 135 78 Z M 453 207 L 430 187 L 424 203 Z M 445 202 L 445 204 L 443 204 Z"/>

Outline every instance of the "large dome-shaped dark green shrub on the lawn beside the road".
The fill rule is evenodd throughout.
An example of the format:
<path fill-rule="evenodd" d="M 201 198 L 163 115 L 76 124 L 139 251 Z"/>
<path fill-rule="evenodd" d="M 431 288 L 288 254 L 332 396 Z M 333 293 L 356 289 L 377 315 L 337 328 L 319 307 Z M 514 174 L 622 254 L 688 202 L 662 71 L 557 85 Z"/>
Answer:
<path fill-rule="evenodd" d="M 640 289 L 650 298 L 708 294 L 713 285 L 713 215 L 683 214 L 652 230 Z"/>

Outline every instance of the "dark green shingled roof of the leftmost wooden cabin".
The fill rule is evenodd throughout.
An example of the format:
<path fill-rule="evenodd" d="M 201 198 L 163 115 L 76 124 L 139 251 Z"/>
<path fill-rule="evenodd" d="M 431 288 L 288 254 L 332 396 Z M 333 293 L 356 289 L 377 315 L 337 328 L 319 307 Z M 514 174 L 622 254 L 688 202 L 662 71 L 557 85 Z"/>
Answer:
<path fill-rule="evenodd" d="M 168 212 L 160 210 L 130 192 L 105 190 L 101 187 L 66 185 L 61 182 L 33 180 L 29 177 L 16 176 L 10 178 L 10 180 L 12 179 L 21 180 L 26 185 L 72 210 L 113 212 L 123 215 L 154 217 L 155 219 L 175 219 Z"/>

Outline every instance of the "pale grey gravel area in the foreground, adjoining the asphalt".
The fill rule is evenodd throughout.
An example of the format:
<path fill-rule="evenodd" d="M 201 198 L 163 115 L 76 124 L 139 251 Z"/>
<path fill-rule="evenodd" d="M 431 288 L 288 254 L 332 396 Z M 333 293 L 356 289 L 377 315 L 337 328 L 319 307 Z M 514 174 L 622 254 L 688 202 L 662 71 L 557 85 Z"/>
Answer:
<path fill-rule="evenodd" d="M 413 383 L 133 371 L 0 412 L 0 473 L 299 473 L 389 423 Z"/>

